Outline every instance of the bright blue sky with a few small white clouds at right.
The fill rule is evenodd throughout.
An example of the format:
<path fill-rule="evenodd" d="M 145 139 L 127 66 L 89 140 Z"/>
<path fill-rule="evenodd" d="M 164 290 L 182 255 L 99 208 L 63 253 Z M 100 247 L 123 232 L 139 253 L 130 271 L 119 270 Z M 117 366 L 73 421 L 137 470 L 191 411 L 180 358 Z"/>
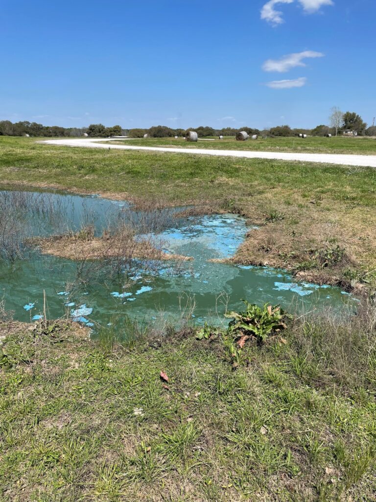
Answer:
<path fill-rule="evenodd" d="M 298 128 L 339 106 L 371 124 L 375 20 L 375 0 L 0 0 L 0 119 Z"/>

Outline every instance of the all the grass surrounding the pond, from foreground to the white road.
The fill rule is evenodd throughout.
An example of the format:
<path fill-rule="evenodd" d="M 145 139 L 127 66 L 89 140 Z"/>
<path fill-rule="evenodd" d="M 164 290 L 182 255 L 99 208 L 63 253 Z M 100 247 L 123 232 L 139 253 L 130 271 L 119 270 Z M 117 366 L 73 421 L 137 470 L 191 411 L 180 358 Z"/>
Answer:
<path fill-rule="evenodd" d="M 242 263 L 374 286 L 370 168 L 0 138 L 0 179 L 140 207 L 236 211 L 260 225 L 237 253 Z M 199 340 L 190 320 L 179 332 L 109 327 L 92 341 L 67 320 L 10 317 L 0 301 L 1 502 L 374 498 L 371 302 L 336 324 L 291 320 L 260 345 L 231 331 Z"/>

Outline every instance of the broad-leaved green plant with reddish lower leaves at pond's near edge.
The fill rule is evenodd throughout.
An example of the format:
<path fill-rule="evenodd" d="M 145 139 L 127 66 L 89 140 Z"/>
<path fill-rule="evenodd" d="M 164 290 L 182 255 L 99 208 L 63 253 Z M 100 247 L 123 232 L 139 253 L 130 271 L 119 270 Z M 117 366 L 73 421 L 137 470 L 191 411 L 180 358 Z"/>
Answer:
<path fill-rule="evenodd" d="M 256 304 L 251 304 L 243 300 L 246 310 L 243 312 L 229 312 L 226 317 L 233 318 L 229 324 L 229 331 L 235 338 L 241 338 L 238 342 L 244 345 L 244 337 L 254 337 L 258 344 L 262 344 L 273 334 L 277 334 L 286 328 L 285 321 L 289 316 L 279 305 L 271 306 L 265 304 L 262 308 Z"/>

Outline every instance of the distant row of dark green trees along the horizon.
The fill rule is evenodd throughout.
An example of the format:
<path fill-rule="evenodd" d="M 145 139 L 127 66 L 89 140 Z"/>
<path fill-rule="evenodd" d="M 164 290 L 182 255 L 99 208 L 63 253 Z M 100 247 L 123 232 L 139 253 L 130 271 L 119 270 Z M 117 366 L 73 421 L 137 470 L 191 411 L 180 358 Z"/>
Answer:
<path fill-rule="evenodd" d="M 10 120 L 0 120 L 0 136 L 34 136 L 34 137 L 80 137 L 89 136 L 93 138 L 108 138 L 109 136 L 129 136 L 130 138 L 143 138 L 148 135 L 150 138 L 173 138 L 183 137 L 187 131 L 196 131 L 199 138 L 236 136 L 239 131 L 246 131 L 248 135 L 259 135 L 261 137 L 288 137 L 306 134 L 310 136 L 326 136 L 331 134 L 336 136 L 342 131 L 356 131 L 358 136 L 376 136 L 376 126 L 367 128 L 367 124 L 355 112 L 346 111 L 343 113 L 339 108 L 334 107 L 329 116 L 329 124 L 320 124 L 314 129 L 291 129 L 290 126 L 276 126 L 271 129 L 222 128 L 214 129 L 210 126 L 200 126 L 198 128 L 172 129 L 168 126 L 153 126 L 149 129 L 123 129 L 121 126 L 106 127 L 103 124 L 90 124 L 87 128 L 63 128 L 60 126 L 43 126 L 37 122 L 27 120 L 12 123 Z"/>

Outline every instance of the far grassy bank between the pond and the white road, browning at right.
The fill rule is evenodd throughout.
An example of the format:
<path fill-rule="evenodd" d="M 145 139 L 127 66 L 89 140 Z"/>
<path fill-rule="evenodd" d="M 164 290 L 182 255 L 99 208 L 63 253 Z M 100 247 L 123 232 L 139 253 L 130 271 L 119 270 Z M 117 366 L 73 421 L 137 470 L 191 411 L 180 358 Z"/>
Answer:
<path fill-rule="evenodd" d="M 374 284 L 374 169 L 54 147 L 30 138 L 0 138 L 0 145 L 3 183 L 102 193 L 140 207 L 147 201 L 236 211 L 261 227 L 240 249 L 242 263 L 341 286 Z"/>

